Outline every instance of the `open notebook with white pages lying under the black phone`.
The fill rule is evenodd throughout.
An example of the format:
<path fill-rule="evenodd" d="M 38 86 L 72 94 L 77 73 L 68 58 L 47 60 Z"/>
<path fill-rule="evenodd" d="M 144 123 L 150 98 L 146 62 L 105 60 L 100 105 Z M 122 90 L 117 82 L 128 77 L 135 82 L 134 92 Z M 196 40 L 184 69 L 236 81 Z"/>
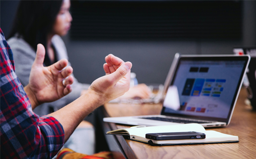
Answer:
<path fill-rule="evenodd" d="M 146 133 L 169 133 L 169 132 L 199 132 L 205 133 L 205 139 L 174 139 L 174 140 L 153 140 L 146 139 Z M 181 124 L 168 126 L 133 126 L 127 129 L 118 129 L 106 134 L 125 135 L 129 139 L 147 143 L 150 145 L 184 145 L 184 144 L 210 144 L 210 143 L 230 143 L 239 142 L 238 136 L 228 135 L 212 130 L 206 131 L 200 124 Z"/>

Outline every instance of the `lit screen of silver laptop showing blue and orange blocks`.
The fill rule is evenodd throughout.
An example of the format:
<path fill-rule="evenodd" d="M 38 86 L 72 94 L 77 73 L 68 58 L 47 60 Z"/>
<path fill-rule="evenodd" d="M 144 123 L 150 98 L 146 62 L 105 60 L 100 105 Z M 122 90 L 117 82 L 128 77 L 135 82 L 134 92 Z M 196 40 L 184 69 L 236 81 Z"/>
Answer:
<path fill-rule="evenodd" d="M 227 122 L 249 57 L 181 57 L 163 102 L 162 115 Z M 179 97 L 174 107 L 173 96 Z"/>

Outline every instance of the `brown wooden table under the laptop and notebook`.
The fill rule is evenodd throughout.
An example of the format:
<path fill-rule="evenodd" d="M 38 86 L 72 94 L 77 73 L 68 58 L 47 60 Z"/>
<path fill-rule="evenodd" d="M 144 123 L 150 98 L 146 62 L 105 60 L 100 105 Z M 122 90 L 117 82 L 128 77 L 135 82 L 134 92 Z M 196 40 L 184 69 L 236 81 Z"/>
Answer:
<path fill-rule="evenodd" d="M 256 112 L 245 105 L 245 99 L 242 89 L 229 126 L 207 129 L 236 135 L 239 143 L 150 146 L 119 135 L 106 135 L 109 149 L 116 159 L 256 159 Z M 160 104 L 106 104 L 102 108 L 105 117 L 159 114 L 161 111 Z M 103 127 L 106 133 L 129 126 L 104 122 Z"/>

